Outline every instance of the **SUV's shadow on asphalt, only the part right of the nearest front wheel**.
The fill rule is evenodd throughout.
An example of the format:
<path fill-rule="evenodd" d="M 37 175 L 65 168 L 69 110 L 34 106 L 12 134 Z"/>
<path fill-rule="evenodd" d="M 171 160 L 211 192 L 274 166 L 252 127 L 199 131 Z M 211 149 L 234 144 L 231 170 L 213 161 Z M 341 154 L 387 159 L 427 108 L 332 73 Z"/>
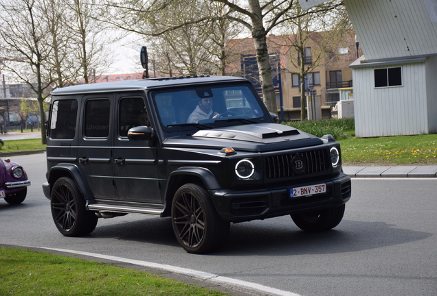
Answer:
<path fill-rule="evenodd" d="M 385 222 L 341 221 L 326 232 L 304 232 L 293 226 L 234 225 L 222 253 L 226 256 L 337 254 L 423 240 L 432 233 L 396 228 Z"/>

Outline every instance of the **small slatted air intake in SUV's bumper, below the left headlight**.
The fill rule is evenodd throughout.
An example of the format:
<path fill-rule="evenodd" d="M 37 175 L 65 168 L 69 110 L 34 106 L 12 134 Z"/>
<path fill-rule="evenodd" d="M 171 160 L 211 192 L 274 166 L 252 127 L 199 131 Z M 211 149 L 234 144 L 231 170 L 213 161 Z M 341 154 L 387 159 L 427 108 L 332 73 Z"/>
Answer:
<path fill-rule="evenodd" d="M 237 197 L 231 201 L 230 212 L 234 216 L 251 216 L 262 214 L 262 212 L 267 210 L 267 206 L 267 195 L 258 197 Z"/>

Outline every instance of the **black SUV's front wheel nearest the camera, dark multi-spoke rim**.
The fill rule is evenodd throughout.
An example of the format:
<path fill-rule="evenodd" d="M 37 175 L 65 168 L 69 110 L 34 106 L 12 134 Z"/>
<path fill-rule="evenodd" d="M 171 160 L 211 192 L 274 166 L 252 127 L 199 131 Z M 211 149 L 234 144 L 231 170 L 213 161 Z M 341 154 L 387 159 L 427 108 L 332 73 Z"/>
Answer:
<path fill-rule="evenodd" d="M 208 192 L 197 184 L 185 184 L 175 193 L 172 226 L 179 244 L 191 254 L 219 249 L 230 229 L 230 223 L 217 214 Z"/>

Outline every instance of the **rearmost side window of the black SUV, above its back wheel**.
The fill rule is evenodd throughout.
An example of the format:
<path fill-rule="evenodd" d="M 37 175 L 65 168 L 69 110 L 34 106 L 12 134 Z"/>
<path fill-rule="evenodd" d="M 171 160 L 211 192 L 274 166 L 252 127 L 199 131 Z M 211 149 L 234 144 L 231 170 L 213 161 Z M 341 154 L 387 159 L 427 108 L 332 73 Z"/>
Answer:
<path fill-rule="evenodd" d="M 50 116 L 49 137 L 57 139 L 73 139 L 76 134 L 78 101 L 68 99 L 54 101 Z"/>

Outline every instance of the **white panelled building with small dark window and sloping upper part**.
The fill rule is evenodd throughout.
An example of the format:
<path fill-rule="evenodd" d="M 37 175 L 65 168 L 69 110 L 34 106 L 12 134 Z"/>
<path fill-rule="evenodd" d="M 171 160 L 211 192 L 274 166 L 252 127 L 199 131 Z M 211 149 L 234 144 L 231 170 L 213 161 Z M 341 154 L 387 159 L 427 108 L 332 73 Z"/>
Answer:
<path fill-rule="evenodd" d="M 344 3 L 364 53 L 350 65 L 356 135 L 436 133 L 437 0 Z"/>

